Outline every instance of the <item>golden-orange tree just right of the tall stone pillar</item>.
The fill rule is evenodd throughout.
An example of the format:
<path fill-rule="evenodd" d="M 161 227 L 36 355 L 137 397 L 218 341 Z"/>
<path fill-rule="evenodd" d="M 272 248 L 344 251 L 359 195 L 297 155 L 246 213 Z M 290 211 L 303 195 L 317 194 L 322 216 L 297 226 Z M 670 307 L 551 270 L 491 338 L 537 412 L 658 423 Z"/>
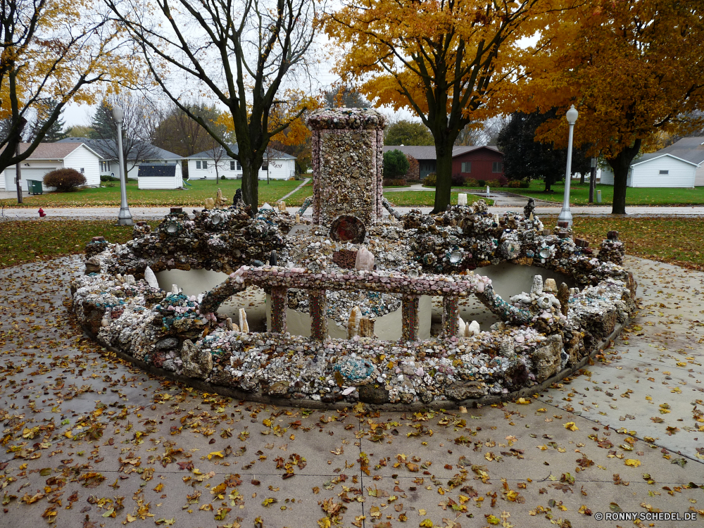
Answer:
<path fill-rule="evenodd" d="M 471 122 L 496 112 L 503 84 L 515 81 L 517 41 L 542 29 L 547 0 L 344 0 L 325 16 L 344 46 L 337 72 L 354 78 L 378 105 L 410 108 L 434 138 L 434 212 L 450 203 L 452 149 Z"/>

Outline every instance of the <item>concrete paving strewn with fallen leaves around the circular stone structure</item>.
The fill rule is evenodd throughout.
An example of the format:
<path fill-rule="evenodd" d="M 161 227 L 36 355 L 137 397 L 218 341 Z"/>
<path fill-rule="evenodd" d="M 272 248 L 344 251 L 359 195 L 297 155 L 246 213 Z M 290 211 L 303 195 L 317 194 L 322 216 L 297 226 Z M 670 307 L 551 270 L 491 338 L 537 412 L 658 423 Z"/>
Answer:
<path fill-rule="evenodd" d="M 651 510 L 699 521 L 640 526 L 699 526 L 704 274 L 627 265 L 640 310 L 613 348 L 526 403 L 466 413 L 203 394 L 81 337 L 80 258 L 0 270 L 1 525 L 596 528 Z"/>

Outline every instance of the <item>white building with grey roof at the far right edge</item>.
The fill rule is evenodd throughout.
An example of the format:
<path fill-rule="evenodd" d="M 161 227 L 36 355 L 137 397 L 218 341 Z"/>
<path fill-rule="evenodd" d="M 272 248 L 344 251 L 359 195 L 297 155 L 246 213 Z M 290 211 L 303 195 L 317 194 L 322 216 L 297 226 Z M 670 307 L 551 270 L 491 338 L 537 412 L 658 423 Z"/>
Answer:
<path fill-rule="evenodd" d="M 612 185 L 610 168 L 601 183 Z M 628 187 L 696 187 L 704 185 L 704 137 L 685 137 L 665 149 L 643 154 L 631 163 Z"/>

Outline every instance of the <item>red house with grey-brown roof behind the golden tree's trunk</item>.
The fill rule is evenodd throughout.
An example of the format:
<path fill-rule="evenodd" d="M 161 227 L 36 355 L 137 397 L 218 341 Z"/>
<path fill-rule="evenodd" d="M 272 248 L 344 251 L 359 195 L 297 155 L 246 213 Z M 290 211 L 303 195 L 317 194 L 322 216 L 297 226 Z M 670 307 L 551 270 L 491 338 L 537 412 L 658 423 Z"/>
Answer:
<path fill-rule="evenodd" d="M 417 159 L 420 179 L 436 170 L 434 146 L 387 145 L 384 152 L 399 150 Z M 496 180 L 503 176 L 503 153 L 496 146 L 455 146 L 452 149 L 452 173 L 461 173 L 467 180 Z"/>

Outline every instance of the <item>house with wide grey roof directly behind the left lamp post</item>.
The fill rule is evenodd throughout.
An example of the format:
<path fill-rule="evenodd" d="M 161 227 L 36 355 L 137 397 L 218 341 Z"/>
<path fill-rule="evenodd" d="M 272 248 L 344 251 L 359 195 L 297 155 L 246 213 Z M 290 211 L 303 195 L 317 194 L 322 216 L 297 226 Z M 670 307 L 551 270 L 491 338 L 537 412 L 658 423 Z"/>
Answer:
<path fill-rule="evenodd" d="M 58 143 L 83 143 L 96 151 L 101 156 L 100 175 L 101 176 L 120 176 L 118 161 L 115 159 L 115 142 L 106 139 L 89 139 L 86 137 L 67 137 L 61 139 Z M 137 179 L 139 174 L 139 165 L 173 165 L 180 163 L 182 156 L 160 149 L 158 146 L 153 146 L 149 143 L 136 145 L 133 151 L 127 156 L 127 177 Z"/>

